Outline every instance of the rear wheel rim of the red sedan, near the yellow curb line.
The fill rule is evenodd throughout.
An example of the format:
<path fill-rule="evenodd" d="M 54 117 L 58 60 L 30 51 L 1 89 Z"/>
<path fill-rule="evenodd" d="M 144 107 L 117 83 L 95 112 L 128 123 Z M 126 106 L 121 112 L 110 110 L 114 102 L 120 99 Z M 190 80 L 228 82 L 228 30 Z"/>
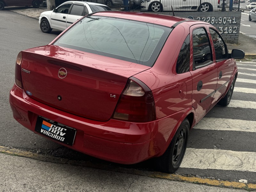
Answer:
<path fill-rule="evenodd" d="M 185 142 L 186 142 L 186 128 L 183 127 L 179 135 L 177 136 L 174 144 L 173 154 L 172 154 L 172 164 L 176 165 L 180 163 L 180 159 L 182 157 L 182 154 L 184 153 L 185 149 Z"/>

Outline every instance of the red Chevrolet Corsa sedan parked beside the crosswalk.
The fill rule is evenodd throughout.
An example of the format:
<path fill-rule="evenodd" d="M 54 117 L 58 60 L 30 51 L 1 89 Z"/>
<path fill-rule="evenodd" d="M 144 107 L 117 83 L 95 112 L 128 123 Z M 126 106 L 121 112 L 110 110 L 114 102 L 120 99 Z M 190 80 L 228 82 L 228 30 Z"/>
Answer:
<path fill-rule="evenodd" d="M 175 172 L 189 130 L 228 105 L 244 52 L 212 25 L 141 12 L 97 12 L 46 46 L 18 54 L 13 117 L 31 131 L 104 160 L 156 157 Z"/>

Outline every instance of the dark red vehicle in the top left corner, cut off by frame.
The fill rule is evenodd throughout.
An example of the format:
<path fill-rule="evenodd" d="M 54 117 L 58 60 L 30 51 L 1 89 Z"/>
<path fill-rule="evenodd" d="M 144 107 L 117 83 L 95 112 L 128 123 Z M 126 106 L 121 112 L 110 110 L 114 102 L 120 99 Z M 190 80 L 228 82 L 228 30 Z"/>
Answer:
<path fill-rule="evenodd" d="M 38 8 L 43 0 L 0 0 L 0 10 L 3 10 L 4 7 L 10 6 L 33 6 L 34 8 Z"/>

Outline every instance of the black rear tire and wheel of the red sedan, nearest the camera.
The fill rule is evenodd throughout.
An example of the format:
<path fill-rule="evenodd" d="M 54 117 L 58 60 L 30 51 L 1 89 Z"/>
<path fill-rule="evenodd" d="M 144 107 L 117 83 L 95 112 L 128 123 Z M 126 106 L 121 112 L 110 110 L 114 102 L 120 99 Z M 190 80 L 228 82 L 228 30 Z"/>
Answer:
<path fill-rule="evenodd" d="M 156 166 L 159 171 L 173 173 L 180 167 L 187 148 L 189 128 L 189 121 L 186 118 L 180 124 L 165 153 L 156 158 Z"/>

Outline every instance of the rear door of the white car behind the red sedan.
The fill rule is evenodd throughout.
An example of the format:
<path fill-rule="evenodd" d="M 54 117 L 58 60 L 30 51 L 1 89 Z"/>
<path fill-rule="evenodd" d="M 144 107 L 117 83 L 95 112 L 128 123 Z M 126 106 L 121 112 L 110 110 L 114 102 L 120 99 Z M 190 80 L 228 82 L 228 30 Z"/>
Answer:
<path fill-rule="evenodd" d="M 88 14 L 88 9 L 84 4 L 74 3 L 67 15 L 67 28 L 78 19 Z"/>

